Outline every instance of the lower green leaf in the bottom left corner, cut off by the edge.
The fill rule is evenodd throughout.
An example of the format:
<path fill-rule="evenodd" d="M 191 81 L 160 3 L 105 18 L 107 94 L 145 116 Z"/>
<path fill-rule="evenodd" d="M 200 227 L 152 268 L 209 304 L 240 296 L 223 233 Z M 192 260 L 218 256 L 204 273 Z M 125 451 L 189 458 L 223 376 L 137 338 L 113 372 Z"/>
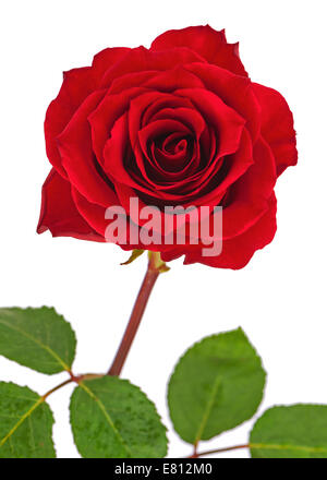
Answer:
<path fill-rule="evenodd" d="M 0 458 L 55 458 L 53 417 L 26 386 L 0 382 Z"/>

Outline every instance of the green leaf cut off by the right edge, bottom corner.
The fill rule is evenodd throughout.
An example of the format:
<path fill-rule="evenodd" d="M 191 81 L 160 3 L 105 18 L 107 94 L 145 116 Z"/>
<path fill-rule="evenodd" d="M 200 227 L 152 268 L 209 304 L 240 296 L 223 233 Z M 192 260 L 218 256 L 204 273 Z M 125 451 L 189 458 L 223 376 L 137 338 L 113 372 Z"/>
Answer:
<path fill-rule="evenodd" d="M 253 458 L 327 458 L 327 406 L 272 407 L 250 435 Z"/>

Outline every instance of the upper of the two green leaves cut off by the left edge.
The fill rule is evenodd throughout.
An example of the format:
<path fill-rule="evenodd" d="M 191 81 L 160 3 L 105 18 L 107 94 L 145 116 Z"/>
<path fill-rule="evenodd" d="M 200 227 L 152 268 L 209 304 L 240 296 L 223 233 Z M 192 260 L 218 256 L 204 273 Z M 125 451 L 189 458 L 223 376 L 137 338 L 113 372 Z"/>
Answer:
<path fill-rule="evenodd" d="M 76 339 L 55 309 L 0 309 L 0 355 L 41 373 L 70 370 Z"/>

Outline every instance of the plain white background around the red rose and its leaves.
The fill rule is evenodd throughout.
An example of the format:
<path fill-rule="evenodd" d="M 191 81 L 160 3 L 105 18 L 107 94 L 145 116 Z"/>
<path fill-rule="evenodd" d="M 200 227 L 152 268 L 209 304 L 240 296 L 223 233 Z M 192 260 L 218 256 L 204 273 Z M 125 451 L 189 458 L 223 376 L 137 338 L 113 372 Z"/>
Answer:
<path fill-rule="evenodd" d="M 171 264 L 155 288 L 123 376 L 142 386 L 170 428 L 170 456 L 191 447 L 172 431 L 166 385 L 192 343 L 242 325 L 268 372 L 259 411 L 275 404 L 327 404 L 326 11 L 312 0 L 2 1 L 2 307 L 55 305 L 78 338 L 76 373 L 108 369 L 138 290 L 146 259 L 130 267 L 118 247 L 35 232 L 49 171 L 43 122 L 61 72 L 110 46 L 148 47 L 166 29 L 209 23 L 240 40 L 251 77 L 280 91 L 294 112 L 299 166 L 279 179 L 278 232 L 242 271 Z M 65 379 L 0 358 L 0 380 L 40 394 Z M 49 404 L 59 457 L 77 457 L 69 425 L 73 386 Z M 253 421 L 202 447 L 244 443 Z M 247 456 L 237 451 L 226 456 Z"/>

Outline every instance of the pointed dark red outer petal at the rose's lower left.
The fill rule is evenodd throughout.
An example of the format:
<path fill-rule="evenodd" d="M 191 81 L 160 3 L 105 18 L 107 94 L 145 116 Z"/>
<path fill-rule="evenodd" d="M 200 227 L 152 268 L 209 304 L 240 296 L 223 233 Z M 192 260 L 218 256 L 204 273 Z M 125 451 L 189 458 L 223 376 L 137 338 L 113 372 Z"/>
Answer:
<path fill-rule="evenodd" d="M 105 241 L 80 215 L 71 195 L 71 185 L 52 168 L 43 187 L 37 232 L 50 230 L 53 237 L 74 237 Z"/>

